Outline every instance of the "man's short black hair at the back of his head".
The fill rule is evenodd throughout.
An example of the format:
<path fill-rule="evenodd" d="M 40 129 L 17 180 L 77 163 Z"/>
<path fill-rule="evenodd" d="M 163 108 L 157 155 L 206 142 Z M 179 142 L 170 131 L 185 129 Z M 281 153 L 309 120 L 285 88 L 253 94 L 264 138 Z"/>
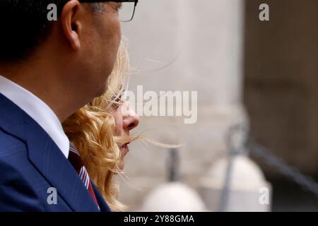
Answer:
<path fill-rule="evenodd" d="M 0 0 L 0 62 L 21 61 L 46 40 L 52 22 L 47 6 L 58 15 L 69 0 Z"/>

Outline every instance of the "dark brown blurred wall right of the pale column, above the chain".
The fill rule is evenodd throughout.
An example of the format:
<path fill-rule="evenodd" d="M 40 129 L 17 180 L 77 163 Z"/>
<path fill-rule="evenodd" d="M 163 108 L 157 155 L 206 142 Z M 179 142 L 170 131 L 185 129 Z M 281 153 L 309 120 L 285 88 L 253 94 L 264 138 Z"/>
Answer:
<path fill-rule="evenodd" d="M 255 9 L 263 2 L 246 1 L 244 97 L 252 136 L 318 175 L 318 1 L 266 1 L 270 21 L 261 22 Z"/>

